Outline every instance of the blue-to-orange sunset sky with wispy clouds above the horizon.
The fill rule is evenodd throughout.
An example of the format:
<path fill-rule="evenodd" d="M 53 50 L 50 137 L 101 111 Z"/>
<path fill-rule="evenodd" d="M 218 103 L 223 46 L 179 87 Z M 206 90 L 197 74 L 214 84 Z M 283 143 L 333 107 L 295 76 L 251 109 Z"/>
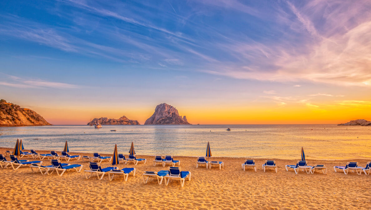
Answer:
<path fill-rule="evenodd" d="M 371 120 L 371 1 L 0 1 L 0 99 L 51 124 Z"/>

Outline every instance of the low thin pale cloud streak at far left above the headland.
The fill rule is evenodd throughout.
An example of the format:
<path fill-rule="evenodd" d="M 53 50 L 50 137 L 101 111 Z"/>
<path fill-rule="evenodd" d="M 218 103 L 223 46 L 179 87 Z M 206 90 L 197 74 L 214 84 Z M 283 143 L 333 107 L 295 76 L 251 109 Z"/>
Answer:
<path fill-rule="evenodd" d="M 7 75 L 11 82 L 0 81 L 0 85 L 14 88 L 55 88 L 55 89 L 75 89 L 81 88 L 79 85 L 72 85 L 62 82 L 50 82 L 41 79 L 23 79 L 17 76 Z"/>

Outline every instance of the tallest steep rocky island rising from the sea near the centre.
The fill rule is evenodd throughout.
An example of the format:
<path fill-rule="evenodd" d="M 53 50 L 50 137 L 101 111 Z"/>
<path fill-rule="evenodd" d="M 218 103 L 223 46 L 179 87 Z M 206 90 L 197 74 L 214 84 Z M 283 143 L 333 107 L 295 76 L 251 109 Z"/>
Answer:
<path fill-rule="evenodd" d="M 153 115 L 148 118 L 144 125 L 191 125 L 187 118 L 179 115 L 174 106 L 160 104 L 156 106 Z"/>

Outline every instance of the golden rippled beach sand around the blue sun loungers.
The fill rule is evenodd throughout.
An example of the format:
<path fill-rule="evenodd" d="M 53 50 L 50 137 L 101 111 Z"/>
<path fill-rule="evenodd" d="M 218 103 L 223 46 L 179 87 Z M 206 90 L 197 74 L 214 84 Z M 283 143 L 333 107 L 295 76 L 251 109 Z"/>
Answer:
<path fill-rule="evenodd" d="M 0 148 L 0 154 L 5 154 L 5 150 L 9 149 Z M 152 179 L 143 184 L 144 171 L 167 167 L 154 167 L 153 156 L 137 156 L 147 158 L 147 163 L 119 165 L 137 169 L 135 177 L 130 175 L 126 182 L 121 177 L 109 181 L 108 176 L 102 180 L 96 177 L 86 180 L 83 172 L 71 171 L 59 177 L 55 173 L 33 174 L 29 167 L 15 171 L 0 168 L 0 209 L 370 209 L 371 205 L 371 175 L 351 172 L 345 175 L 335 173 L 332 168 L 349 161 L 363 166 L 369 160 L 308 160 L 308 164 L 325 164 L 328 168 L 325 175 L 286 171 L 285 165 L 295 164 L 295 160 L 276 159 L 278 173 L 271 170 L 263 173 L 263 159 L 255 159 L 258 170 L 254 172 L 242 170 L 245 158 L 212 157 L 212 160 L 224 161 L 224 168 L 210 170 L 204 166 L 196 168 L 195 157 L 176 157 L 175 160 L 181 161 L 182 170 L 192 174 L 191 181 L 185 181 L 182 188 L 179 181 L 170 181 L 165 186 Z M 50 165 L 50 161 L 43 161 L 43 165 Z M 82 160 L 68 163 L 83 164 L 85 170 L 89 168 Z M 101 165 L 111 166 L 108 161 Z"/>

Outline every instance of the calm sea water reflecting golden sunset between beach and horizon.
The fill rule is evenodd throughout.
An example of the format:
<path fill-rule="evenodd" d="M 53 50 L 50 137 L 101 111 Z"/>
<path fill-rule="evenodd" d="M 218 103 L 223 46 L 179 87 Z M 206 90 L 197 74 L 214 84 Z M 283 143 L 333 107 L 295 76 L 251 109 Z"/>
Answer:
<path fill-rule="evenodd" d="M 231 128 L 231 131 L 226 131 Z M 110 131 L 110 130 L 116 130 Z M 0 147 L 137 155 L 203 156 L 210 141 L 213 157 L 334 160 L 371 159 L 371 127 L 337 125 L 54 125 L 0 127 Z"/>

